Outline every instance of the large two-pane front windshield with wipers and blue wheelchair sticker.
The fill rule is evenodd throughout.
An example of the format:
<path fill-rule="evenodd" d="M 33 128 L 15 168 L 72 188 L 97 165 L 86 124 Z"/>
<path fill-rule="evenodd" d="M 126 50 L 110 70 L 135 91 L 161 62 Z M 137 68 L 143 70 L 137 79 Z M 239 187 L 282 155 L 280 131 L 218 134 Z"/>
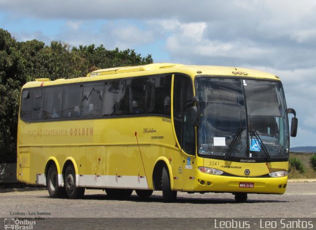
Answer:
<path fill-rule="evenodd" d="M 288 157 L 282 85 L 274 81 L 198 77 L 198 154 L 281 160 Z"/>

